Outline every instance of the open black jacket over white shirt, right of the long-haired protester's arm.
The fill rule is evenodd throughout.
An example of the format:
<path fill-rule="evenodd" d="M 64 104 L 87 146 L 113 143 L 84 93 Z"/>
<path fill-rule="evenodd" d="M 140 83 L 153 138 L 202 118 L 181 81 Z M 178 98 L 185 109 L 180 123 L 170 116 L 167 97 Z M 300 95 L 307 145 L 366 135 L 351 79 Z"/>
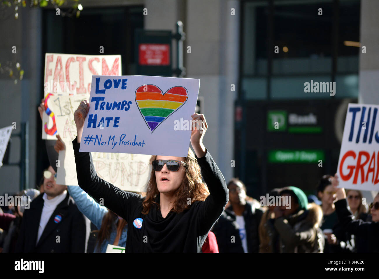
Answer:
<path fill-rule="evenodd" d="M 259 234 L 258 227 L 263 211 L 257 209 L 250 202 L 246 202 L 245 211 L 242 213 L 245 221 L 247 252 L 258 252 Z M 218 250 L 220 253 L 243 253 L 242 241 L 236 216 L 232 206 L 222 212 L 221 217 L 212 229 L 216 236 Z M 234 236 L 234 238 L 232 238 Z M 234 240 L 234 241 L 232 241 Z"/>

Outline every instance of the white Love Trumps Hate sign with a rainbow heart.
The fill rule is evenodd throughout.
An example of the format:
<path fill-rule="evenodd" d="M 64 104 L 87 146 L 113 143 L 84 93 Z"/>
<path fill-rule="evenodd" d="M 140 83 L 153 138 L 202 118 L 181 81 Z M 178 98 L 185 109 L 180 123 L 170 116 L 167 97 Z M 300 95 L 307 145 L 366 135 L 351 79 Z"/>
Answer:
<path fill-rule="evenodd" d="M 187 157 L 199 85 L 192 78 L 94 75 L 80 151 Z"/>

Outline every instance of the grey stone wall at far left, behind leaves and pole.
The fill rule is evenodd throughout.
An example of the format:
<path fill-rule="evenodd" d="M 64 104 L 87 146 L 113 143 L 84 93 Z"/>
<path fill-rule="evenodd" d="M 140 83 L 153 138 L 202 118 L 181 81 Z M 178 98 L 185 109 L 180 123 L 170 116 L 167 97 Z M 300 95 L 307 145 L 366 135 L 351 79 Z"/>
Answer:
<path fill-rule="evenodd" d="M 14 13 L 12 13 L 14 14 Z M 35 157 L 36 157 L 36 124 L 37 106 L 41 101 L 40 75 L 41 75 L 41 9 L 20 8 L 19 19 L 14 16 L 2 19 L 0 37 L 6 38 L 0 41 L 2 65 L 5 61 L 19 62 L 25 71 L 23 80 L 14 84 L 14 80 L 1 75 L 0 79 L 0 127 L 16 122 L 16 130 L 13 134 L 20 133 L 21 122 L 29 123 L 29 158 L 28 169 L 29 187 L 34 187 Z M 12 47 L 16 46 L 16 53 L 12 53 Z M 15 68 L 15 67 L 14 67 Z M 16 73 L 15 73 L 16 74 Z M 12 147 L 9 161 L 16 163 L 20 160 L 20 140 L 12 137 Z M 17 166 L 2 166 L 0 168 L 0 193 L 5 191 L 19 191 L 20 172 Z"/>

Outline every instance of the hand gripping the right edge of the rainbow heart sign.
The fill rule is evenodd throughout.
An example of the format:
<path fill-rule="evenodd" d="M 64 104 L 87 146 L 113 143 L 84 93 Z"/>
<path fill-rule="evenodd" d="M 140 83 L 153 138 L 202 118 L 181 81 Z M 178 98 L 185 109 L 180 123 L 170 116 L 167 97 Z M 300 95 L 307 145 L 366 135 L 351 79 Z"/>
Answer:
<path fill-rule="evenodd" d="M 192 132 L 191 132 L 191 144 L 195 150 L 197 158 L 201 158 L 205 155 L 205 146 L 203 144 L 204 134 L 207 131 L 208 124 L 205 120 L 204 114 L 195 113 L 192 114 Z"/>

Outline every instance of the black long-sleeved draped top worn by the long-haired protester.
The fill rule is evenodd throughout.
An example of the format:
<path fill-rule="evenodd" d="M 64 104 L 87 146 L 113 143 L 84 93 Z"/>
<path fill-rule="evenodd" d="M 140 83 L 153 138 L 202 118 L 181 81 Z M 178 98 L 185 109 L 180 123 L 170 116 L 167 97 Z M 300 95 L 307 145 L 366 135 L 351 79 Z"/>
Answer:
<path fill-rule="evenodd" d="M 79 152 L 77 138 L 72 146 L 79 186 L 95 200 L 102 198 L 105 207 L 128 222 L 125 252 L 201 252 L 209 230 L 229 198 L 224 176 L 208 151 L 204 157 L 197 158 L 197 163 L 210 195 L 205 201 L 193 202 L 181 213 L 170 211 L 163 218 L 155 205 L 149 213 L 142 213 L 144 197 L 141 195 L 123 191 L 101 179 L 91 153 Z M 159 204 L 159 201 L 158 194 L 155 202 Z"/>

